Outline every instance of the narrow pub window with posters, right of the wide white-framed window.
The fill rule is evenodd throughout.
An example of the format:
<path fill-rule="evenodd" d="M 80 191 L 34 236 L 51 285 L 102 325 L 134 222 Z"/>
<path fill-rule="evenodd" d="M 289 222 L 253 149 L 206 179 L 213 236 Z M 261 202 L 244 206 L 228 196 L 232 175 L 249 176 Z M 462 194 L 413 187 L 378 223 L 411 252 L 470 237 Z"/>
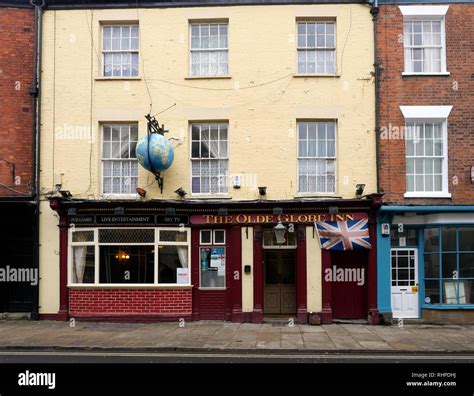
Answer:
<path fill-rule="evenodd" d="M 224 288 L 226 271 L 225 230 L 201 230 L 200 286 Z M 206 241 L 203 243 L 203 241 Z"/>

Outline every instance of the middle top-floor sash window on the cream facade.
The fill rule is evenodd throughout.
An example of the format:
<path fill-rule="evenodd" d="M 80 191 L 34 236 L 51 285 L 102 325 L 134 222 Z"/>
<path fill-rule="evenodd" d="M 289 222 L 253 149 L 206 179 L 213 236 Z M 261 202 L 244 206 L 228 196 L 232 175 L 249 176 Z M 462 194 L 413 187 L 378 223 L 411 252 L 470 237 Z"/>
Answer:
<path fill-rule="evenodd" d="M 229 74 L 228 24 L 191 24 L 191 76 L 215 77 Z"/>

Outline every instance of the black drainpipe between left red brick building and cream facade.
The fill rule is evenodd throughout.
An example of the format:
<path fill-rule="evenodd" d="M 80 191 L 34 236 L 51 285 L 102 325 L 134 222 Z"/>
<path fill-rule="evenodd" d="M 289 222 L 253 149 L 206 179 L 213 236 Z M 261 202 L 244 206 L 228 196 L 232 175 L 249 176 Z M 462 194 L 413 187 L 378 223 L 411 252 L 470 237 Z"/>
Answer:
<path fill-rule="evenodd" d="M 41 127 L 41 52 L 42 52 L 42 30 L 44 0 L 36 3 L 30 0 L 35 8 L 34 14 L 34 55 L 33 55 L 33 81 L 28 92 L 31 94 L 32 126 L 33 126 L 33 194 L 34 194 L 34 236 L 33 236 L 33 268 L 38 271 L 38 283 L 33 293 L 33 307 L 31 319 L 39 319 L 39 214 L 40 214 L 40 127 Z"/>

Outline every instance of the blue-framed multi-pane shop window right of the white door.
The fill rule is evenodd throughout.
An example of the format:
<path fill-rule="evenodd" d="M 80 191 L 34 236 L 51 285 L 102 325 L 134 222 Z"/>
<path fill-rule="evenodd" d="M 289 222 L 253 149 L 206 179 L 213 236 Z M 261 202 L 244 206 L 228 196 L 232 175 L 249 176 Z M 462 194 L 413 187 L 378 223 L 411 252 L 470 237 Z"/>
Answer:
<path fill-rule="evenodd" d="M 424 243 L 426 304 L 473 304 L 474 227 L 429 227 Z"/>

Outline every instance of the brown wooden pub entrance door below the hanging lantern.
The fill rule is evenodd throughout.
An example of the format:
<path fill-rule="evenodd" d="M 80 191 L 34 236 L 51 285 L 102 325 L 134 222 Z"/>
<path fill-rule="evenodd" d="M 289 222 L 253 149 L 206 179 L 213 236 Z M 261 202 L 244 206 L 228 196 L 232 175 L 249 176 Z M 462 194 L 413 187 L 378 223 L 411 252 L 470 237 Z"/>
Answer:
<path fill-rule="evenodd" d="M 295 251 L 265 251 L 264 312 L 296 312 Z"/>

